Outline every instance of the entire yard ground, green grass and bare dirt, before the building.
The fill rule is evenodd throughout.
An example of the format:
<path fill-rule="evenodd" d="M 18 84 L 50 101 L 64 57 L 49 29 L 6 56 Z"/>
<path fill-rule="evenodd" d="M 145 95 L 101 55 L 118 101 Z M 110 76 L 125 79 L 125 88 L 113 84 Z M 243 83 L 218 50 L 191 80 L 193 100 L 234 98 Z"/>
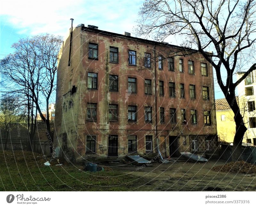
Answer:
<path fill-rule="evenodd" d="M 255 174 L 212 170 L 224 160 L 180 161 L 153 166 L 111 166 L 113 171 L 88 173 L 84 166 L 52 161 L 22 151 L 0 152 L 0 191 L 255 191 Z"/>

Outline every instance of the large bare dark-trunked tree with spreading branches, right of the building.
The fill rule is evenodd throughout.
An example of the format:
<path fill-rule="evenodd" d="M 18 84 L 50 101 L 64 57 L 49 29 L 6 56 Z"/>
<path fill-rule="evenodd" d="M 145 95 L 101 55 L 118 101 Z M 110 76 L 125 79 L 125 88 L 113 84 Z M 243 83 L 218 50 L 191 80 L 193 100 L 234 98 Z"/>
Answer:
<path fill-rule="evenodd" d="M 216 70 L 218 84 L 233 110 L 236 134 L 232 159 L 241 155 L 243 136 L 247 128 L 236 101 L 236 86 L 243 81 L 256 63 L 251 63 L 237 81 L 233 76 L 250 64 L 255 52 L 255 2 L 253 0 L 146 0 L 140 9 L 136 32 L 162 41 L 170 35 L 180 35 L 182 46 L 195 47 Z M 213 55 L 205 51 L 213 50 Z M 213 61 L 212 61 L 213 58 Z M 223 74 L 221 71 L 225 71 Z"/>

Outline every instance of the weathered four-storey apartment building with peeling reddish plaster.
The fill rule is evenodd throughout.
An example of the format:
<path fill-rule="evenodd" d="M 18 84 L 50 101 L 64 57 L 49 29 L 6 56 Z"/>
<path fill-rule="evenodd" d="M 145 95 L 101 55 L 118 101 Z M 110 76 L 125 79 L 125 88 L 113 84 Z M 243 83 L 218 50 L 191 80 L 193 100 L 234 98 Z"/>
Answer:
<path fill-rule="evenodd" d="M 200 53 L 95 26 L 70 31 L 55 119 L 70 159 L 216 150 L 212 65 Z"/>

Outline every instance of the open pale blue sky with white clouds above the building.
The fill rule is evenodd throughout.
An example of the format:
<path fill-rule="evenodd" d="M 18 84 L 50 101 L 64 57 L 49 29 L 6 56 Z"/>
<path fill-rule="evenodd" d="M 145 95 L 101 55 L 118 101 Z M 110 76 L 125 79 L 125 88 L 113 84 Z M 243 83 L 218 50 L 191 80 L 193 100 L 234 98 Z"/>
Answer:
<path fill-rule="evenodd" d="M 41 33 L 65 37 L 70 27 L 96 25 L 100 30 L 123 34 L 136 25 L 143 0 L 44 0 L 0 1 L 0 59 L 12 53 L 11 45 L 20 38 Z M 132 33 L 132 36 L 135 34 Z M 177 44 L 176 40 L 168 41 Z M 224 98 L 215 81 L 215 98 Z"/>

